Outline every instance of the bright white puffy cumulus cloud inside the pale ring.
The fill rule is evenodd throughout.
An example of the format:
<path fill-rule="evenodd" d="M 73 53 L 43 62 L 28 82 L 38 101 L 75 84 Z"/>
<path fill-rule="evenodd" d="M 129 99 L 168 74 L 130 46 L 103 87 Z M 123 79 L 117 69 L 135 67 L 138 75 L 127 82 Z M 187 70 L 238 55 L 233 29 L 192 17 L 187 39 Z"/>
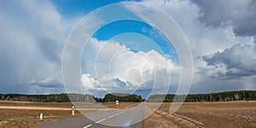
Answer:
<path fill-rule="evenodd" d="M 82 84 L 89 90 L 109 92 L 152 88 L 163 91 L 168 89 L 170 73 L 179 73 L 177 64 L 154 49 L 134 52 L 118 42 L 96 38 L 84 49 L 83 66 Z"/>

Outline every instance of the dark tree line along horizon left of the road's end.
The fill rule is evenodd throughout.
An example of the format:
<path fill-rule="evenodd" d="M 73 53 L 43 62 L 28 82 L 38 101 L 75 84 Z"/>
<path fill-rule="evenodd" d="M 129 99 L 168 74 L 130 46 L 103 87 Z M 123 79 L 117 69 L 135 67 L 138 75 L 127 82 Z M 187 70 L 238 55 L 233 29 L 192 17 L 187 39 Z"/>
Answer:
<path fill-rule="evenodd" d="M 49 95 L 23 95 L 0 94 L 0 100 L 17 102 L 142 102 L 142 96 L 130 94 L 108 94 L 98 98 L 88 94 L 49 94 Z"/>

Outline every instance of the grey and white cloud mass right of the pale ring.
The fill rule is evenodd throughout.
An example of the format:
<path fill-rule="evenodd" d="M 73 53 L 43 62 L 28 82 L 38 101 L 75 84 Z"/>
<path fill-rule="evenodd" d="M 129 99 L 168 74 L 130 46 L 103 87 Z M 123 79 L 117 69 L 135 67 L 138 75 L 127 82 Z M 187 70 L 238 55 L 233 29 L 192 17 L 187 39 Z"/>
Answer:
<path fill-rule="evenodd" d="M 227 4 L 200 0 L 145 0 L 142 3 L 170 15 L 187 36 L 195 58 L 191 93 L 255 90 L 253 1 L 230 1 Z M 137 13 L 136 9 L 131 8 L 131 11 Z"/>

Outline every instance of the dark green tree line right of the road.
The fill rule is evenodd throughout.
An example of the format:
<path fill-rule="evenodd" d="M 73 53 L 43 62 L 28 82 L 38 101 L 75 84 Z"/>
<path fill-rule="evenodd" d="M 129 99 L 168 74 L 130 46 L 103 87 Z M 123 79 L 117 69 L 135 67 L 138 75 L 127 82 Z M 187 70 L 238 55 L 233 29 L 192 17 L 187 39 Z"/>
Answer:
<path fill-rule="evenodd" d="M 147 102 L 172 102 L 175 95 L 149 96 Z M 177 96 L 178 97 L 178 96 Z M 182 95 L 180 96 L 182 97 Z M 176 100 L 177 102 L 178 99 Z M 209 94 L 189 94 L 184 102 L 228 102 L 228 101 L 256 101 L 256 90 L 235 90 Z"/>

